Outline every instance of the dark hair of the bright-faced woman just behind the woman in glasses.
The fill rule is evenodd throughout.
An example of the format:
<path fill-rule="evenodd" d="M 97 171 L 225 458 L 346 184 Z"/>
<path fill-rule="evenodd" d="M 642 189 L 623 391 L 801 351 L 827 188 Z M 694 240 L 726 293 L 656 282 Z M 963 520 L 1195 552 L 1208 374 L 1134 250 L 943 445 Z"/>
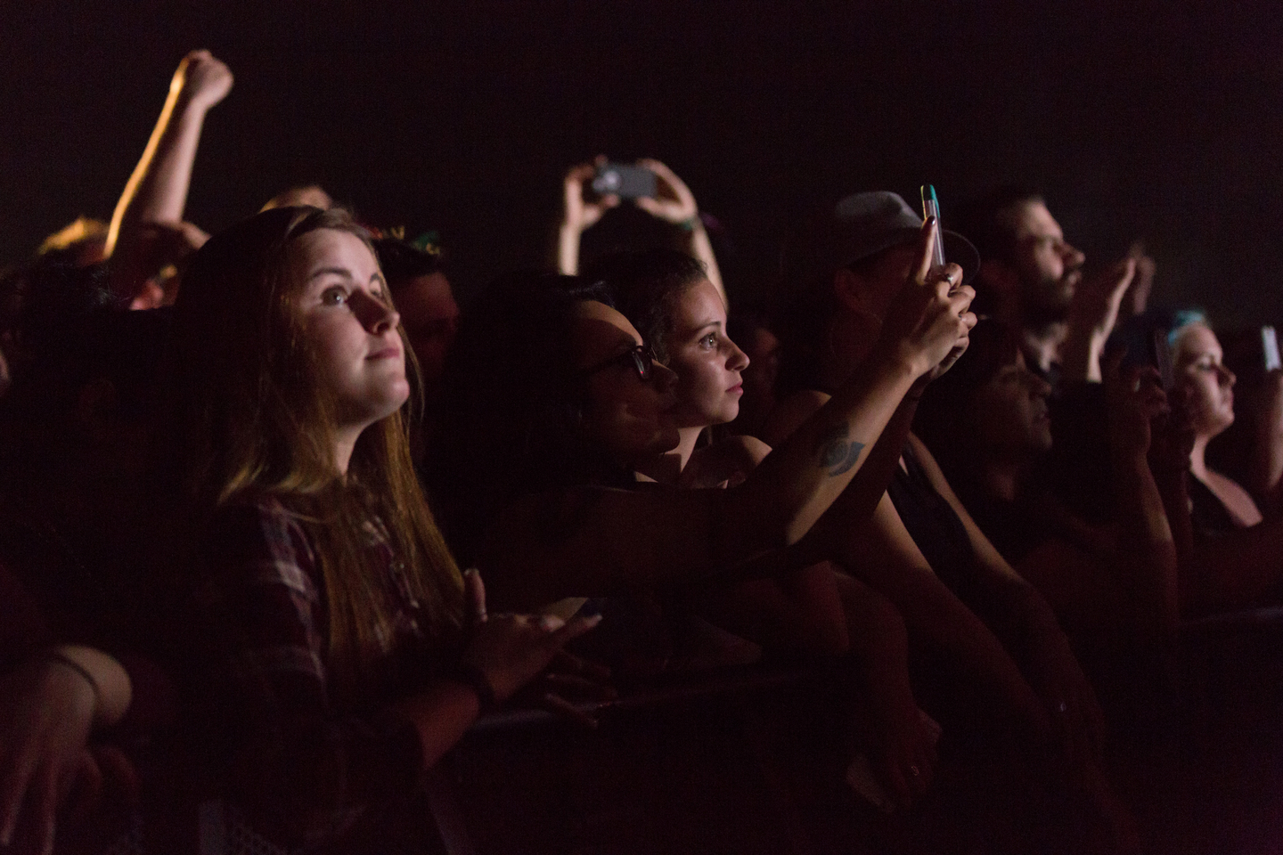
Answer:
<path fill-rule="evenodd" d="M 616 308 L 654 347 L 656 358 L 668 361 L 667 338 L 674 331 L 675 301 L 708 278 L 704 265 L 677 250 L 612 253 L 584 270 L 584 279 L 609 288 Z"/>

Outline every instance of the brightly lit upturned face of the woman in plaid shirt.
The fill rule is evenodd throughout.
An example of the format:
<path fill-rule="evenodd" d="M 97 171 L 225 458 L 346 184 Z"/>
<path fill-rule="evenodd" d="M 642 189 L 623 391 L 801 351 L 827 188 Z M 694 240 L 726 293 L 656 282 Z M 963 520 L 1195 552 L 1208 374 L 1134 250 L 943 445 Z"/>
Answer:
<path fill-rule="evenodd" d="M 289 264 L 300 285 L 294 310 L 340 427 L 395 413 L 409 397 L 405 353 L 375 254 L 355 235 L 322 228 L 290 245 Z"/>

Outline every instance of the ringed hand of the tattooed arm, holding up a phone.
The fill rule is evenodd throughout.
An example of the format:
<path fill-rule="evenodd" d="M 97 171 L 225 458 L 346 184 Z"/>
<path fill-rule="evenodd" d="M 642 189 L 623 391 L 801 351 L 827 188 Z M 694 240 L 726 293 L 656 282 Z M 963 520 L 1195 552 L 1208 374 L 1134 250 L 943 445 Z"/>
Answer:
<path fill-rule="evenodd" d="M 962 268 L 946 264 L 931 272 L 931 240 L 939 223 L 922 223 L 917 238 L 917 263 L 908 282 L 892 300 L 883 318 L 879 347 L 908 365 L 916 377 L 943 373 L 966 351 L 975 327 L 970 311 L 975 291 L 961 285 Z"/>

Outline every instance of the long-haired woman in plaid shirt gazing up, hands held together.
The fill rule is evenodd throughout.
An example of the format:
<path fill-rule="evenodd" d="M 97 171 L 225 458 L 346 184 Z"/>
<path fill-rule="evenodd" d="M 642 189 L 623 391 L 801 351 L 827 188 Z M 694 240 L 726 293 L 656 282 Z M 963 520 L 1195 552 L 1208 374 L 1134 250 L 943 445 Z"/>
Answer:
<path fill-rule="evenodd" d="M 595 623 L 486 618 L 414 477 L 407 354 L 340 210 L 216 236 L 174 306 L 158 495 L 196 568 L 201 732 L 227 792 L 290 842 L 385 834 L 481 709 Z"/>

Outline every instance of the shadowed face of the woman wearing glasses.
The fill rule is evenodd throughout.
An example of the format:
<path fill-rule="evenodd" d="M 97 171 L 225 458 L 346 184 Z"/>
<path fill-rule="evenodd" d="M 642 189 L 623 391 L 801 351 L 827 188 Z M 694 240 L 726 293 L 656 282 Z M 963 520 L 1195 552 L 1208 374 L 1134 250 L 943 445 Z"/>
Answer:
<path fill-rule="evenodd" d="M 575 369 L 584 376 L 584 429 L 624 464 L 677 445 L 672 419 L 676 376 L 654 363 L 643 379 L 630 353 L 642 336 L 627 318 L 603 303 L 580 303 L 571 315 Z"/>

